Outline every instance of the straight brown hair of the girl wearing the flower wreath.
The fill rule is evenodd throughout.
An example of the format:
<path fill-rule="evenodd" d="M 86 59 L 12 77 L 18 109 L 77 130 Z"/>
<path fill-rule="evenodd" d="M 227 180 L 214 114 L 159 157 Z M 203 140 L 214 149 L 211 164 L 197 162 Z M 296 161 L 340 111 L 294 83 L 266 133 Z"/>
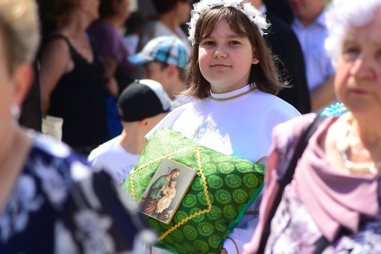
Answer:
<path fill-rule="evenodd" d="M 244 3 L 242 2 L 239 7 L 242 7 Z M 247 38 L 252 48 L 256 49 L 259 63 L 251 65 L 250 84 L 256 82 L 260 90 L 274 95 L 287 86 L 287 83 L 280 81 L 280 75 L 274 65 L 276 57 L 271 54 L 258 27 L 244 13 L 234 7 L 217 6 L 207 10 L 196 23 L 195 44 L 190 50 L 190 62 L 185 77 L 186 89 L 182 93 L 183 96 L 189 95 L 195 99 L 204 99 L 210 96 L 210 83 L 200 71 L 199 43 L 203 38 L 209 36 L 215 25 L 221 21 L 226 21 L 237 35 Z"/>

